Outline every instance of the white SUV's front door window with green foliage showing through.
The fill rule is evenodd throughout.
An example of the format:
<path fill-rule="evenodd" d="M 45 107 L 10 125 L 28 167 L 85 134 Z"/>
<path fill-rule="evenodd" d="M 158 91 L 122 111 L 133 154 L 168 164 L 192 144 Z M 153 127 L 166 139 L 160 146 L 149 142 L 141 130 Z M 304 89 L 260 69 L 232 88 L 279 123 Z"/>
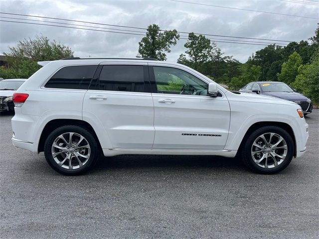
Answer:
<path fill-rule="evenodd" d="M 207 96 L 208 84 L 188 72 L 162 66 L 153 69 L 158 93 Z"/>

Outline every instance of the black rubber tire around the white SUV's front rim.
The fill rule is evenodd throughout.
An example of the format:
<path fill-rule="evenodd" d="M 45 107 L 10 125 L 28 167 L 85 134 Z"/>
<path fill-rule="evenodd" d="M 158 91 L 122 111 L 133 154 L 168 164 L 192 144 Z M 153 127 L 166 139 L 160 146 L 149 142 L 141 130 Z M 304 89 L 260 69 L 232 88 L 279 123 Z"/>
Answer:
<path fill-rule="evenodd" d="M 262 134 L 265 133 L 276 133 L 280 136 L 282 136 L 287 144 L 287 153 L 285 159 L 278 165 L 273 168 L 265 168 L 262 166 L 257 165 L 255 161 L 253 160 L 252 157 L 252 146 L 254 141 Z M 285 169 L 289 163 L 291 162 L 293 156 L 294 156 L 294 151 L 295 151 L 295 145 L 294 141 L 291 137 L 291 135 L 283 128 L 278 127 L 278 126 L 264 126 L 261 128 L 256 129 L 253 131 L 248 138 L 243 142 L 243 148 L 241 150 L 241 156 L 244 164 L 253 172 L 261 173 L 261 174 L 274 174 L 282 171 Z M 264 150 L 264 149 L 263 149 Z M 268 149 L 269 150 L 269 149 Z M 266 151 L 264 151 L 266 152 Z M 265 153 L 265 155 L 267 152 Z"/>

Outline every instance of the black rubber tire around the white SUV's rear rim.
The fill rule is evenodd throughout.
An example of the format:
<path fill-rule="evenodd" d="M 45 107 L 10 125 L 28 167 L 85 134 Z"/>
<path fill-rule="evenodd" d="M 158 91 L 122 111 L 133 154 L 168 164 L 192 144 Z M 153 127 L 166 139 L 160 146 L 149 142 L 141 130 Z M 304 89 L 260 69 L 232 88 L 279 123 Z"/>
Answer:
<path fill-rule="evenodd" d="M 52 145 L 53 145 L 54 141 L 56 140 L 56 138 L 58 136 L 60 136 L 61 134 L 68 133 L 68 132 L 74 132 L 76 134 L 82 135 L 90 147 L 89 158 L 87 159 L 85 164 L 83 163 L 83 166 L 76 168 L 76 169 L 67 169 L 67 168 L 64 168 L 63 166 L 60 166 L 55 161 L 55 159 L 53 158 L 53 155 L 52 155 Z M 80 152 L 80 150 L 78 150 L 78 151 Z M 67 153 L 70 154 L 70 152 L 67 152 Z M 61 174 L 64 174 L 64 175 L 70 175 L 70 176 L 71 175 L 80 175 L 80 174 L 87 172 L 97 162 L 99 154 L 100 154 L 100 150 L 98 147 L 97 139 L 93 136 L 93 134 L 90 131 L 88 131 L 87 129 L 85 129 L 81 126 L 77 126 L 77 125 L 65 125 L 65 126 L 61 126 L 61 127 L 56 128 L 48 135 L 48 137 L 46 138 L 45 143 L 44 143 L 44 155 L 45 155 L 46 161 L 55 171 L 57 171 Z M 81 159 L 84 159 L 84 158 L 81 158 Z M 86 159 L 84 159 L 84 160 L 86 160 Z M 72 161 L 76 162 L 76 158 L 71 159 L 71 163 L 72 163 Z"/>

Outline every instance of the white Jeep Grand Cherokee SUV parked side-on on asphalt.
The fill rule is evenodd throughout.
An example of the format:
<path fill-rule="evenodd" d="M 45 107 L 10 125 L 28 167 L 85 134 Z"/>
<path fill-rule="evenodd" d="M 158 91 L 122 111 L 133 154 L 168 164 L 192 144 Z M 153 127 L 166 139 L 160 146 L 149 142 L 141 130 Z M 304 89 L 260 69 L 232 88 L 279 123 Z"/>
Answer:
<path fill-rule="evenodd" d="M 233 93 L 180 64 L 68 58 L 44 65 L 14 94 L 12 142 L 56 171 L 87 171 L 99 155 L 240 155 L 276 173 L 306 151 L 296 103 Z"/>

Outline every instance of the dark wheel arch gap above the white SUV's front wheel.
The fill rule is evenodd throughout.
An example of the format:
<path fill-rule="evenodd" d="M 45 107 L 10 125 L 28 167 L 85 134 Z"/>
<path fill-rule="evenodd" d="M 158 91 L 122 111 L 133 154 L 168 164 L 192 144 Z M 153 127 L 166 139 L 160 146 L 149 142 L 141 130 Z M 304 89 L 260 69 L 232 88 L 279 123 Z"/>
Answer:
<path fill-rule="evenodd" d="M 241 140 L 238 152 L 241 151 L 241 149 L 243 148 L 243 144 L 244 144 L 244 142 L 246 142 L 248 136 L 253 131 L 255 131 L 257 128 L 260 128 L 260 127 L 263 127 L 263 126 L 278 126 L 278 127 L 281 127 L 283 129 L 285 129 L 290 134 L 290 136 L 293 139 L 294 147 L 295 147 L 294 157 L 297 156 L 297 143 L 296 143 L 296 136 L 295 136 L 294 130 L 292 129 L 292 127 L 288 123 L 277 122 L 277 121 L 259 121 L 259 122 L 256 122 L 256 123 L 252 124 L 248 128 L 248 130 L 246 131 L 245 136 L 243 137 L 243 139 Z M 237 155 L 238 155 L 238 152 L 237 152 Z"/>

